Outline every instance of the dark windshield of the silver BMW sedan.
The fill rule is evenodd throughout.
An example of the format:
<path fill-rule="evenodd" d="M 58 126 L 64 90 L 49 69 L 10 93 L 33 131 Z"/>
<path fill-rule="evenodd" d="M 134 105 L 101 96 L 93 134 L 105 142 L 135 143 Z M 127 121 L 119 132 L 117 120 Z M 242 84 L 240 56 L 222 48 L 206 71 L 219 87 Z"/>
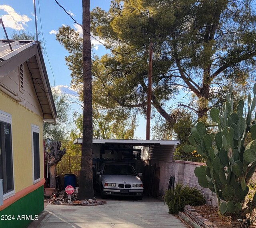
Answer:
<path fill-rule="evenodd" d="M 106 165 L 103 174 L 137 176 L 134 168 L 130 165 Z"/>

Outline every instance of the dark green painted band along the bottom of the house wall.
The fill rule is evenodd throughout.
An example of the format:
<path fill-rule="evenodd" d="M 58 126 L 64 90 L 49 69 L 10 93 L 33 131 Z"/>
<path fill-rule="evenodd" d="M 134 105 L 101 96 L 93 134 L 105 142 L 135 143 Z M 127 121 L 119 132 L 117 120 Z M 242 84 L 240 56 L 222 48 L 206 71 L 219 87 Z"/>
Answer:
<path fill-rule="evenodd" d="M 30 222 L 33 221 L 32 219 L 36 220 L 36 217 L 38 217 L 43 210 L 44 186 L 41 186 L 0 211 L 0 227 L 26 228 Z M 9 217 L 14 219 L 1 220 L 3 216 L 5 218 Z"/>

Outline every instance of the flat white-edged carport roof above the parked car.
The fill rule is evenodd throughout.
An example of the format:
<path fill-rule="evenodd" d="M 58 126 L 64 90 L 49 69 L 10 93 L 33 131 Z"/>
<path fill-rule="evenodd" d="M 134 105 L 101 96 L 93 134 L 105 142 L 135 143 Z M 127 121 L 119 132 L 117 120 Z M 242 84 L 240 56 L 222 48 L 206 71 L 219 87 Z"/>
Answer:
<path fill-rule="evenodd" d="M 82 144 L 83 139 L 75 139 L 73 144 Z M 144 139 L 93 139 L 92 143 L 94 144 L 105 144 L 105 143 L 114 143 L 114 144 L 130 144 L 134 146 L 147 146 L 147 145 L 178 145 L 180 141 L 178 140 L 144 140 Z"/>

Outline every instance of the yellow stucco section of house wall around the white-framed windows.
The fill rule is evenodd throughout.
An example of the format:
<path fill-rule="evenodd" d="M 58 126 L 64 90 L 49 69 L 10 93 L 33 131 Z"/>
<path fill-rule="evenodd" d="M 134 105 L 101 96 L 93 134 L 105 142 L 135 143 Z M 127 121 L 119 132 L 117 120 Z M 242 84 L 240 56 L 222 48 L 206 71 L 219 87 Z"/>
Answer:
<path fill-rule="evenodd" d="M 18 192 L 33 184 L 31 124 L 39 127 L 40 179 L 44 177 L 42 117 L 26 109 L 2 91 L 0 110 L 12 115 L 14 190 Z"/>

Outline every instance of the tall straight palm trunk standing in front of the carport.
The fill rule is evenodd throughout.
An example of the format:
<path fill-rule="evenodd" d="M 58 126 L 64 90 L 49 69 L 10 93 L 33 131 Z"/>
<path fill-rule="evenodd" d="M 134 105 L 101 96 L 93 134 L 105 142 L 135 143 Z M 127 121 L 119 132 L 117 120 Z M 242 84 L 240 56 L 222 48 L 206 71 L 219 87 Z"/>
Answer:
<path fill-rule="evenodd" d="M 83 8 L 83 143 L 78 198 L 94 197 L 92 180 L 92 58 L 90 39 L 90 0 L 82 0 Z"/>

